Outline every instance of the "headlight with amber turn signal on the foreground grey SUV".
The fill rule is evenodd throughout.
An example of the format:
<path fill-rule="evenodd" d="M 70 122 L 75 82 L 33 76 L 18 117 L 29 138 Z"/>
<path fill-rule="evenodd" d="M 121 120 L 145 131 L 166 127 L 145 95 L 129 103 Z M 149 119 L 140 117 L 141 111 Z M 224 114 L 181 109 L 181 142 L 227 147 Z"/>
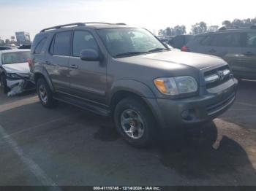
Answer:
<path fill-rule="evenodd" d="M 195 78 L 184 77 L 161 77 L 154 79 L 159 92 L 166 95 L 179 95 L 181 93 L 193 93 L 197 91 Z"/>

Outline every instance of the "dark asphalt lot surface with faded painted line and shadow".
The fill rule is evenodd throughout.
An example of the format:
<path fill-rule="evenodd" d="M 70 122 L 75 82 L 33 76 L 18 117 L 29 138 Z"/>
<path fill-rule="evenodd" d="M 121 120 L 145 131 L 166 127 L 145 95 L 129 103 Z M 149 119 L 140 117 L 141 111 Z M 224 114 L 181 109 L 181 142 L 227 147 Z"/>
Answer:
<path fill-rule="evenodd" d="M 256 185 L 255 87 L 240 82 L 235 104 L 203 125 L 217 141 L 206 130 L 148 149 L 125 143 L 108 118 L 45 109 L 34 92 L 0 94 L 0 185 Z"/>

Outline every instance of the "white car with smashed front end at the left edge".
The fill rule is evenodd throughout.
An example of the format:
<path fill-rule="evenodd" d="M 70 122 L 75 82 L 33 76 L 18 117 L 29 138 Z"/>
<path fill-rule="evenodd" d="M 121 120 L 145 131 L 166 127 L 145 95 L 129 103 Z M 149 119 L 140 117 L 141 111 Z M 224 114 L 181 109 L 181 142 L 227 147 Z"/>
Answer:
<path fill-rule="evenodd" d="M 30 50 L 0 51 L 0 87 L 7 95 L 34 89 L 27 60 Z"/>

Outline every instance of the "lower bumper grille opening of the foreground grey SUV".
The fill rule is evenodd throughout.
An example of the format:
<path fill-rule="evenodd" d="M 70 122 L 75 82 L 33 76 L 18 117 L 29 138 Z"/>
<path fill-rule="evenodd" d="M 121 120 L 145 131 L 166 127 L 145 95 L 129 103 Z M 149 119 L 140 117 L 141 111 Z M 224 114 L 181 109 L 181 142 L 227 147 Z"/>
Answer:
<path fill-rule="evenodd" d="M 211 114 L 215 114 L 217 112 L 220 112 L 222 109 L 225 109 L 227 106 L 229 106 L 230 104 L 233 103 L 233 101 L 235 100 L 236 95 L 235 93 L 233 93 L 232 95 L 230 95 L 229 97 L 225 98 L 225 100 L 220 101 L 217 104 L 211 104 L 208 105 L 206 107 L 207 109 L 207 114 L 211 115 Z"/>

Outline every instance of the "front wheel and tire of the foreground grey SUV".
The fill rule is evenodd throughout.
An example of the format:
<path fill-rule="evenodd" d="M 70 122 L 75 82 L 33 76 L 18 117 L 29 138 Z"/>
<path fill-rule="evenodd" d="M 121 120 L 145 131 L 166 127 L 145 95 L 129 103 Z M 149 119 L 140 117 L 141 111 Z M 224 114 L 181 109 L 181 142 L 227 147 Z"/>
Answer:
<path fill-rule="evenodd" d="M 154 116 L 136 98 L 124 98 L 118 102 L 113 118 L 118 133 L 133 147 L 148 147 L 156 138 Z"/>

